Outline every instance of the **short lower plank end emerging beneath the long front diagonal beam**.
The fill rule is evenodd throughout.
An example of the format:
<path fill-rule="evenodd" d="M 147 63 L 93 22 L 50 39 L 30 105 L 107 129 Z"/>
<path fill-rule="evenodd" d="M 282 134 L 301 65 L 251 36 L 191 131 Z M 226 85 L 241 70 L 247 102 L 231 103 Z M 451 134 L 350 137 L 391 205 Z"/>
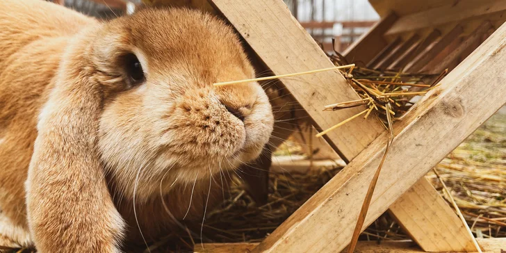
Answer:
<path fill-rule="evenodd" d="M 409 194 L 402 195 L 390 206 L 390 213 L 397 220 L 402 220 L 400 222 L 402 227 L 418 245 L 423 245 L 423 250 L 426 252 L 475 250 L 471 236 L 466 232 L 462 222 L 441 197 L 431 194 L 434 190 L 425 177 L 421 178 L 407 191 Z M 420 210 L 418 207 L 421 205 L 418 205 L 418 202 L 425 202 L 431 210 L 437 210 L 437 212 Z M 448 219 L 452 216 L 453 219 Z M 418 229 L 419 227 L 425 228 Z M 426 233 L 427 230 L 440 231 L 440 233 Z"/>

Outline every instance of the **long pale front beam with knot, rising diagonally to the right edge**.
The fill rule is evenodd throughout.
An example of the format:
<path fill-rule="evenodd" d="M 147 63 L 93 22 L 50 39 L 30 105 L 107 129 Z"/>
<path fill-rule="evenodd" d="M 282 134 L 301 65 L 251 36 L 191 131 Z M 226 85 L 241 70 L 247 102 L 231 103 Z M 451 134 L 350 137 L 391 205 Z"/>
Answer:
<path fill-rule="evenodd" d="M 397 136 L 384 161 L 363 229 L 505 104 L 505 48 L 506 24 L 394 124 Z M 385 132 L 373 141 L 253 252 L 343 250 L 388 136 Z"/>

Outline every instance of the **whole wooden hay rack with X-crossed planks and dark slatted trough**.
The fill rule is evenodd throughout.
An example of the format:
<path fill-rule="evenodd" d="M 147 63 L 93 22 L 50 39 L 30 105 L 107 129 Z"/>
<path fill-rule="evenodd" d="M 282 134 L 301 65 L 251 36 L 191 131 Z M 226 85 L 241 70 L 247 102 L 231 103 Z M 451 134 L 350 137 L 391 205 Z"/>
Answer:
<path fill-rule="evenodd" d="M 192 0 L 218 11 L 274 74 L 334 66 L 281 0 Z M 381 20 L 343 56 L 364 67 L 449 74 L 399 122 L 366 217 L 365 229 L 389 210 L 419 247 L 359 243 L 358 252 L 475 252 L 471 236 L 423 177 L 506 102 L 506 1 L 370 0 Z M 211 7 L 212 6 L 212 7 Z M 487 40 L 485 40 L 488 37 Z M 464 60 L 465 58 L 465 60 Z M 364 108 L 323 112 L 357 99 L 337 72 L 281 79 L 311 116 L 328 129 Z M 352 237 L 368 183 L 388 133 L 361 117 L 324 136 L 350 161 L 262 243 L 204 244 L 196 252 L 340 252 Z M 503 252 L 506 240 L 482 239 L 484 252 Z M 501 250 L 502 249 L 502 250 Z"/>

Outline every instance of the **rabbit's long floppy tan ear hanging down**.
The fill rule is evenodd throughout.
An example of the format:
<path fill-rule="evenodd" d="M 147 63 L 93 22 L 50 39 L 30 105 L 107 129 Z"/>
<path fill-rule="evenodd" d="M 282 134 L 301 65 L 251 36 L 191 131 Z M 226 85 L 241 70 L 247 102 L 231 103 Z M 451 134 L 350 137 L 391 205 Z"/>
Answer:
<path fill-rule="evenodd" d="M 103 87 L 93 77 L 88 43 L 73 44 L 40 113 L 26 182 L 28 221 L 39 252 L 116 252 L 124 221 L 95 147 Z"/>

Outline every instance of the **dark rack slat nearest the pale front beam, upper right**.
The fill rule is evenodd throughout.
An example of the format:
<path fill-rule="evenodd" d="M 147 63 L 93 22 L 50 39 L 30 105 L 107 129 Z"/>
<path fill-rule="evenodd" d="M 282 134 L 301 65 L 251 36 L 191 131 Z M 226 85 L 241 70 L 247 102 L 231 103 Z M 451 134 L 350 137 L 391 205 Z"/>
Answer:
<path fill-rule="evenodd" d="M 472 44 L 475 44 L 479 40 L 481 40 L 482 35 L 487 33 L 489 29 L 492 27 L 489 21 L 483 22 L 480 26 L 478 26 L 473 33 L 471 33 L 459 46 L 453 50 L 448 56 L 444 58 L 441 62 L 437 63 L 435 67 L 427 66 L 424 70 L 430 70 L 433 73 L 441 73 L 443 70 L 448 68 L 450 63 L 457 60 L 462 55 L 462 52 L 466 50 L 468 47 L 471 47 Z M 451 70 L 451 69 L 450 69 Z"/>

